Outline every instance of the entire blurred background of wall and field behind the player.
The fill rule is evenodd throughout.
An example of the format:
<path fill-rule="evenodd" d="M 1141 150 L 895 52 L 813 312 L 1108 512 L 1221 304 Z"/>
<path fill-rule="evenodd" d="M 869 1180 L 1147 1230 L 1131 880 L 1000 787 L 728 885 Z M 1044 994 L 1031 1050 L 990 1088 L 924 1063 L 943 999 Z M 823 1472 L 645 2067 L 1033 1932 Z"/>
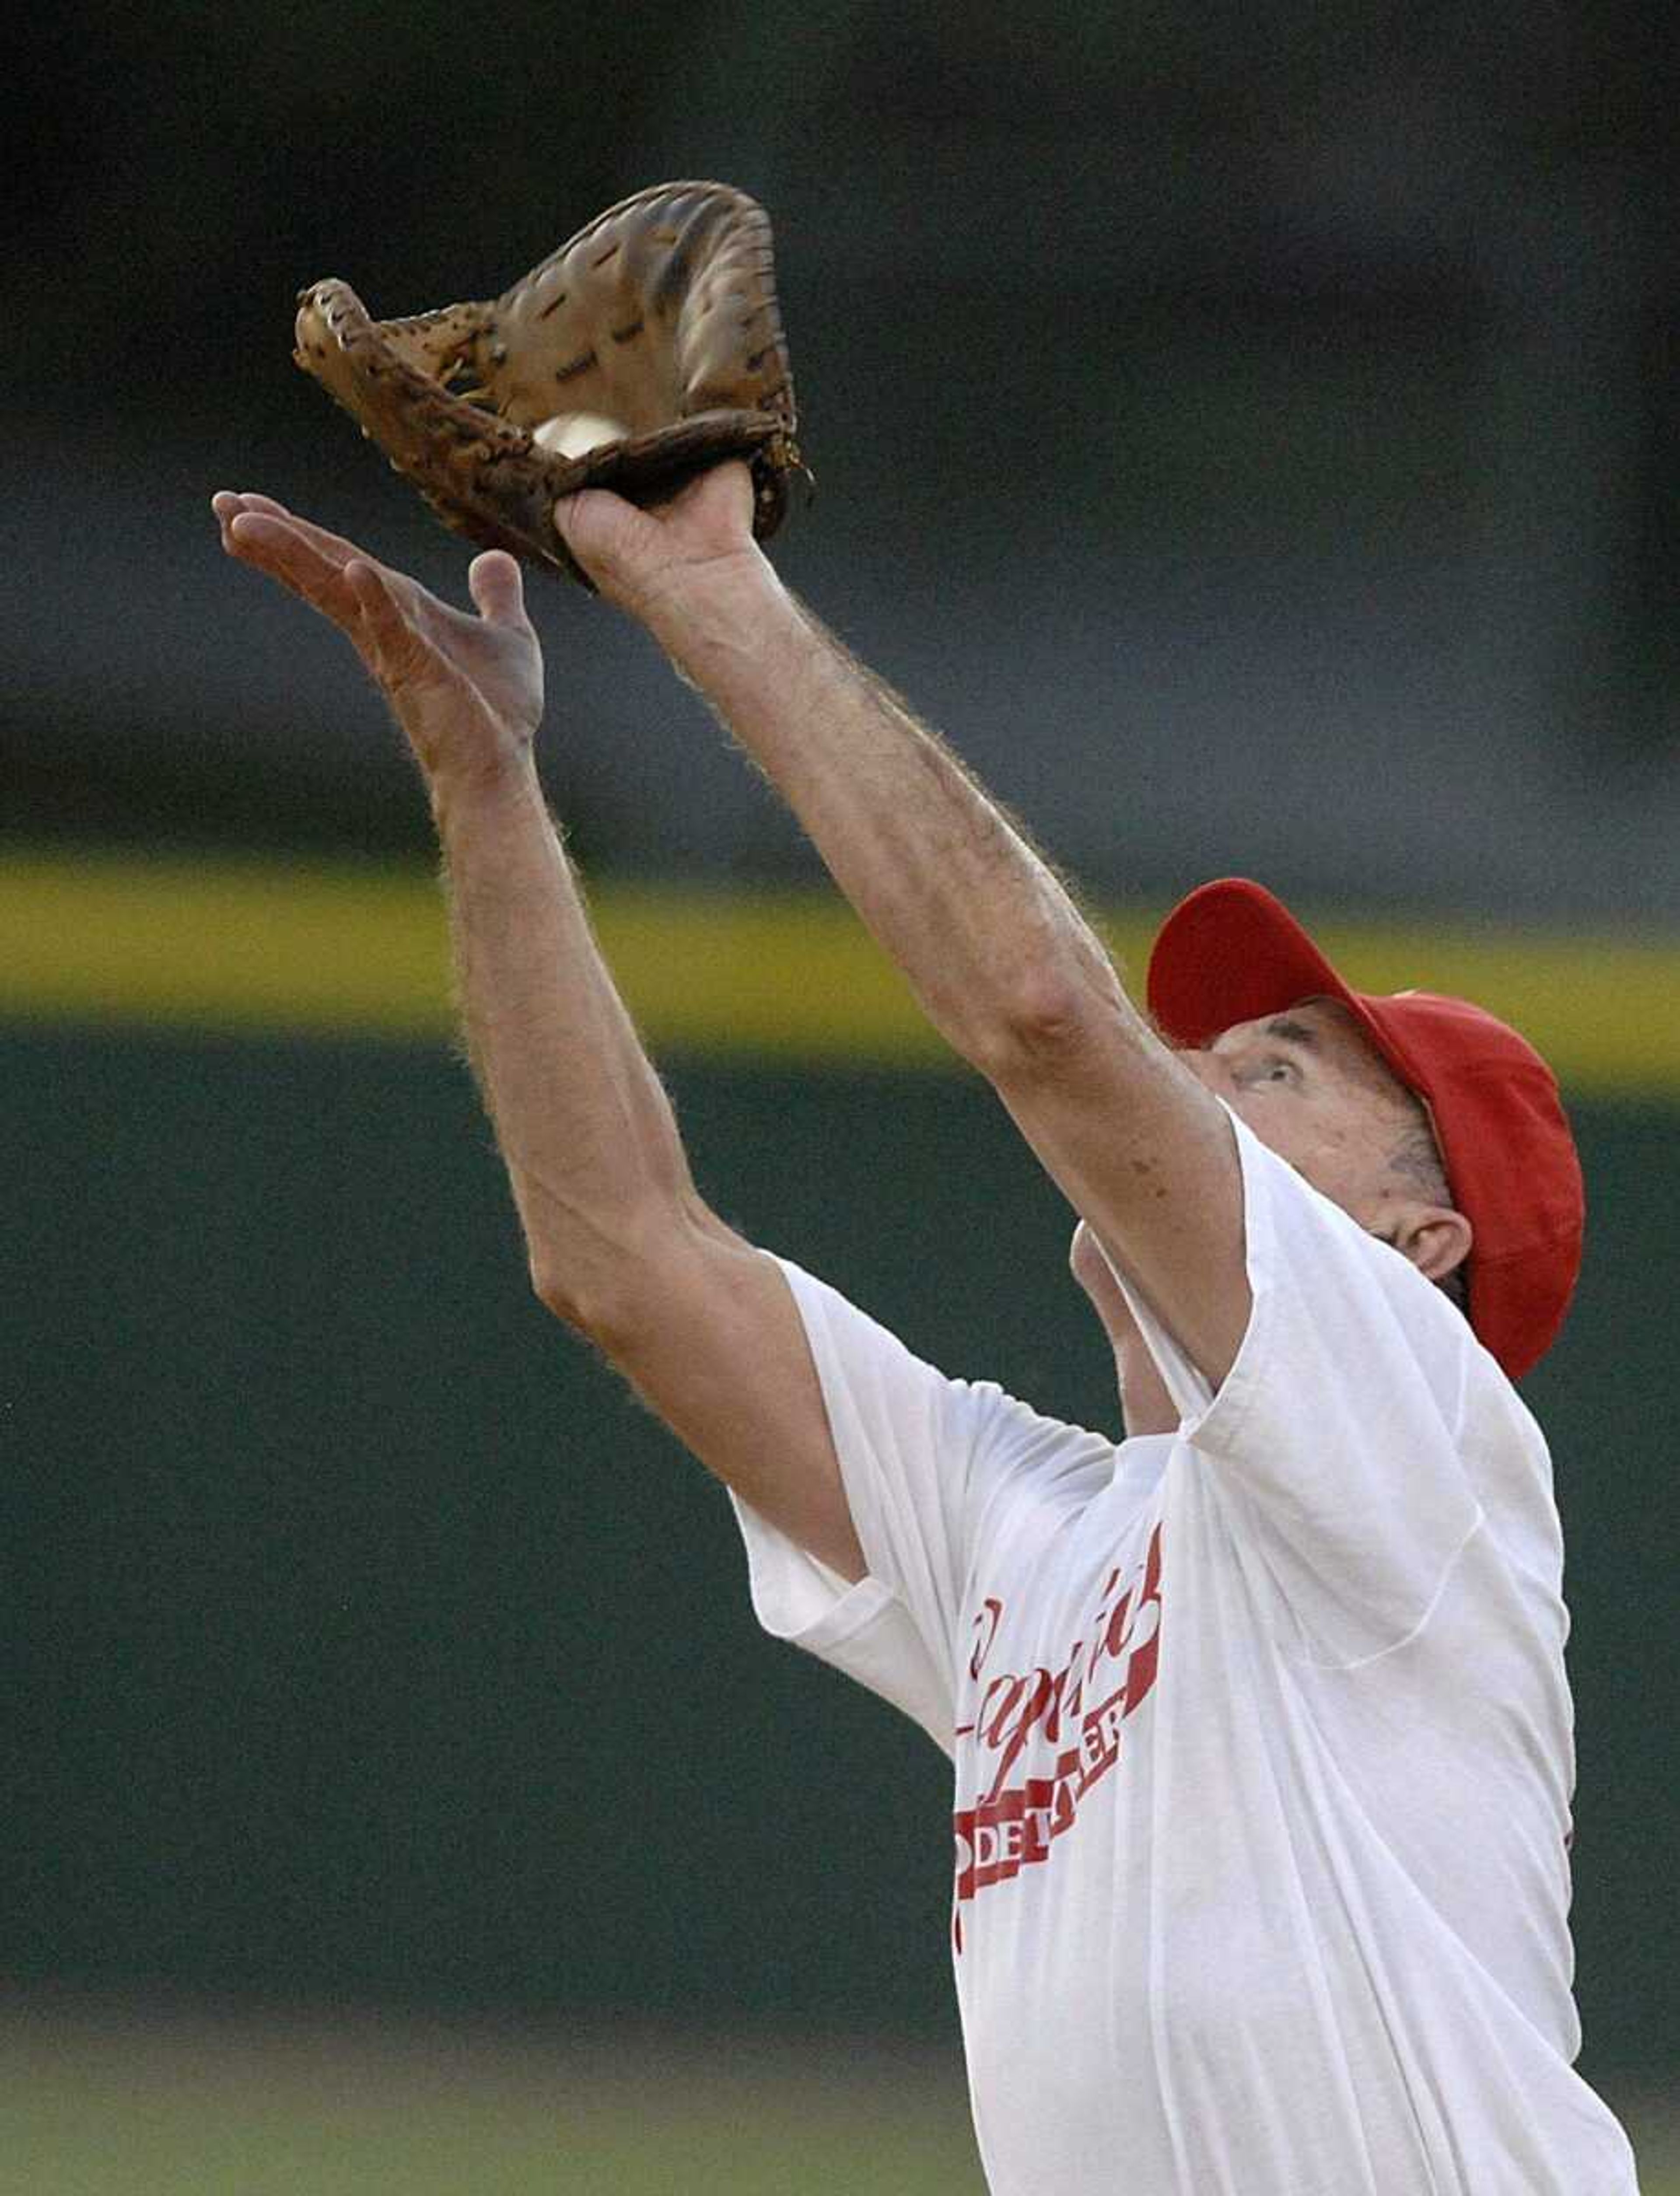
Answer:
<path fill-rule="evenodd" d="M 529 1302 L 424 802 L 259 488 L 461 595 L 294 292 L 775 222 L 791 582 L 1140 964 L 1221 872 L 1566 1080 L 1583 2071 L 1680 2187 L 1676 72 L 1658 9 L 40 11 L 4 99 L 0 2192 L 977 2189 L 944 1763 Z M 1067 1214 L 650 646 L 545 771 L 707 1195 L 1113 1425 Z M 1023 1278 L 1028 1278 L 1023 1287 Z"/>

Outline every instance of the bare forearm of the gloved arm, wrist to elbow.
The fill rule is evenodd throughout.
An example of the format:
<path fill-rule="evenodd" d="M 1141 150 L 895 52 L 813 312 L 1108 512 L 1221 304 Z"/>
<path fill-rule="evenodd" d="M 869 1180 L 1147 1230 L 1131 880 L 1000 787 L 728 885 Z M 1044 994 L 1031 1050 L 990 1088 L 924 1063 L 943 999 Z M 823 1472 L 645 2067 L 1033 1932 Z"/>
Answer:
<path fill-rule="evenodd" d="M 940 1032 L 993 1067 L 1021 1030 L 1122 1008 L 1054 872 L 949 747 L 766 571 L 650 617 L 795 810 Z"/>

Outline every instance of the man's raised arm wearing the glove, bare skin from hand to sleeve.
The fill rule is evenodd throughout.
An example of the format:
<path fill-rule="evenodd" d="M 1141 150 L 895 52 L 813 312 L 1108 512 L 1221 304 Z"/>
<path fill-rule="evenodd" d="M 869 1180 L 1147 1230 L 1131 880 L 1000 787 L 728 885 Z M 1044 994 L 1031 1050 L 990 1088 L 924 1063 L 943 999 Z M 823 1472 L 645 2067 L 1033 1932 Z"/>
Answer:
<path fill-rule="evenodd" d="M 556 523 L 775 784 L 929 1019 L 1217 1383 L 1250 1313 L 1219 1102 L 997 804 L 780 584 L 749 536 L 744 468 L 683 503 L 674 527 L 586 492 Z"/>

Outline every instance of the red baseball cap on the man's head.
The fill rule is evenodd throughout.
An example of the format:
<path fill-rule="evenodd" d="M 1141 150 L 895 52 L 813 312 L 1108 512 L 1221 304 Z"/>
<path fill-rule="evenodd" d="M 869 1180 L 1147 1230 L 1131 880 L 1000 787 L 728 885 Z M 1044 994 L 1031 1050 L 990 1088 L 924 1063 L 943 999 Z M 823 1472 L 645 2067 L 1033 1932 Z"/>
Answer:
<path fill-rule="evenodd" d="M 1179 900 L 1149 957 L 1149 1012 L 1175 1045 L 1201 1047 L 1236 1021 L 1320 997 L 1348 1008 L 1430 1109 L 1454 1206 L 1476 1236 L 1469 1324 L 1517 1379 L 1564 1324 L 1586 1221 L 1575 1138 L 1533 1045 L 1467 999 L 1353 990 L 1289 909 L 1245 876 Z"/>

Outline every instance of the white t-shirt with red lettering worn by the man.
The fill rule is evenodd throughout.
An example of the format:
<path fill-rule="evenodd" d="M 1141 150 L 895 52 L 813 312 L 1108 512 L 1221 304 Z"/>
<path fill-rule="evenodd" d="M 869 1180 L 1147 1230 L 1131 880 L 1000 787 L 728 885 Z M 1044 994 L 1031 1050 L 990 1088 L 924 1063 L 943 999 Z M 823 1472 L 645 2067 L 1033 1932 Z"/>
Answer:
<path fill-rule="evenodd" d="M 1452 1304 L 1241 1122 L 1219 1397 L 1175 1436 L 953 1381 L 784 1265 L 867 1577 L 738 1502 L 769 1632 L 955 1763 L 995 2196 L 1627 2196 L 1572 2071 L 1546 1445 Z"/>

